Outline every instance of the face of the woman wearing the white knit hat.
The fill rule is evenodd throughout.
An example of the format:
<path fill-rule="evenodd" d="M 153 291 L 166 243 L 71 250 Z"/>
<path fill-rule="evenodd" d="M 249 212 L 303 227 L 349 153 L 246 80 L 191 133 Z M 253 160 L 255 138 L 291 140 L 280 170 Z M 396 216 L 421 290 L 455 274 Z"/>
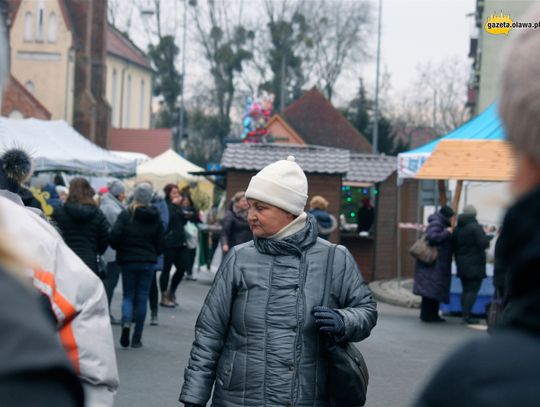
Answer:
<path fill-rule="evenodd" d="M 275 235 L 294 220 L 294 216 L 283 209 L 265 202 L 248 199 L 248 224 L 257 237 Z"/>

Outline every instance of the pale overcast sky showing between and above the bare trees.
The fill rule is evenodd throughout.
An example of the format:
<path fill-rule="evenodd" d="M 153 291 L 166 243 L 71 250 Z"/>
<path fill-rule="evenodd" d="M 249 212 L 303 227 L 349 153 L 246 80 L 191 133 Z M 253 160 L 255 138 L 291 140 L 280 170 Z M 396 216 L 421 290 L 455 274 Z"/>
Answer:
<path fill-rule="evenodd" d="M 147 1 L 151 4 L 149 0 Z M 181 3 L 174 0 L 168 1 L 170 3 L 167 4 L 170 6 L 167 7 L 166 13 L 180 16 Z M 369 44 L 373 58 L 359 66 L 358 69 L 349 70 L 342 75 L 336 85 L 335 99 L 333 100 L 338 105 L 346 103 L 354 96 L 358 89 L 360 76 L 365 79 L 368 92 L 373 92 L 375 88 L 378 0 L 369 1 L 374 7 L 373 34 Z M 382 1 L 381 69 L 391 74 L 391 86 L 394 91 L 392 95 L 394 97 L 412 86 L 416 67 L 421 63 L 432 61 L 437 64 L 449 58 L 458 58 L 470 63 L 467 54 L 473 18 L 467 17 L 467 14 L 474 12 L 475 0 Z M 262 7 L 264 7 L 264 0 L 244 1 L 244 13 L 249 14 L 250 9 L 261 10 Z M 137 17 L 135 19 L 137 20 Z M 193 32 L 194 27 L 189 26 L 190 21 L 188 20 L 188 28 L 191 28 L 189 31 Z M 141 48 L 146 49 L 147 37 L 142 34 L 141 30 L 131 31 L 134 40 Z M 179 33 L 179 31 L 177 32 Z M 194 48 L 193 43 L 189 41 L 186 76 L 188 97 L 197 92 L 197 82 L 207 81 L 209 75 L 206 68 L 199 63 L 201 56 L 193 53 Z"/>

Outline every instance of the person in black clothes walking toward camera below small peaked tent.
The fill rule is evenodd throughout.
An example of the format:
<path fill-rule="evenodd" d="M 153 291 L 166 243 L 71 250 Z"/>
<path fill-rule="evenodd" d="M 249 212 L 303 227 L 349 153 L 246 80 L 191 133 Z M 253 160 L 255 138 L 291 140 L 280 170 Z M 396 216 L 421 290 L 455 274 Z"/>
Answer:
<path fill-rule="evenodd" d="M 165 233 L 163 271 L 159 278 L 161 288 L 160 305 L 171 308 L 177 305 L 172 293 L 176 291 L 176 288 L 182 281 L 188 262 L 187 241 L 184 230 L 187 219 L 182 209 L 183 197 L 180 195 L 178 186 L 168 184 L 163 191 L 165 192 L 165 201 L 169 209 L 169 227 Z M 172 278 L 169 278 L 173 265 L 176 271 Z"/>

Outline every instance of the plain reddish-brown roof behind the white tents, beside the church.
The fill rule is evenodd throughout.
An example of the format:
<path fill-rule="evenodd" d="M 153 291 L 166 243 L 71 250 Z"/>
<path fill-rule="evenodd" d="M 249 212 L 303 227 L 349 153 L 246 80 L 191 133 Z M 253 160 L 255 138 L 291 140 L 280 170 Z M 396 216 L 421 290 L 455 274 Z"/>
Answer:
<path fill-rule="evenodd" d="M 109 132 L 109 149 L 144 153 L 152 158 L 171 147 L 171 129 L 115 129 Z"/>

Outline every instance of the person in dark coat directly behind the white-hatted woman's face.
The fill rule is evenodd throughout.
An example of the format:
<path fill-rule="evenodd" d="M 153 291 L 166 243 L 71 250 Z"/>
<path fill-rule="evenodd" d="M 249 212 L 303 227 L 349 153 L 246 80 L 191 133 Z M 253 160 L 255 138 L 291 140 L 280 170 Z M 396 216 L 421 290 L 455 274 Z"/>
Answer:
<path fill-rule="evenodd" d="M 229 210 L 221 221 L 221 248 L 227 253 L 238 244 L 249 242 L 253 234 L 247 223 L 248 203 L 244 191 L 237 192 L 231 199 Z"/>

